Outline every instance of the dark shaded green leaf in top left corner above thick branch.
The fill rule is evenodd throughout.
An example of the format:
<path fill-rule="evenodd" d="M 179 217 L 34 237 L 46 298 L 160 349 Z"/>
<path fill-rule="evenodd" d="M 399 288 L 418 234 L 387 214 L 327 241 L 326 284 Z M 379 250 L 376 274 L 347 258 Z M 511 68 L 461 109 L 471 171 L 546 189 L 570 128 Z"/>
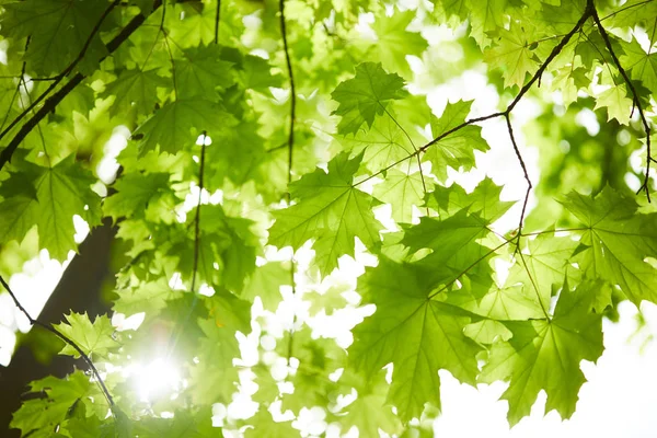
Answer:
<path fill-rule="evenodd" d="M 39 76 L 64 71 L 82 51 L 95 23 L 107 8 L 103 0 L 34 0 L 2 4 L 2 31 L 12 38 L 30 37 L 24 60 Z M 106 20 L 105 27 L 110 20 Z M 79 67 L 90 72 L 107 49 L 99 33 L 85 49 Z"/>

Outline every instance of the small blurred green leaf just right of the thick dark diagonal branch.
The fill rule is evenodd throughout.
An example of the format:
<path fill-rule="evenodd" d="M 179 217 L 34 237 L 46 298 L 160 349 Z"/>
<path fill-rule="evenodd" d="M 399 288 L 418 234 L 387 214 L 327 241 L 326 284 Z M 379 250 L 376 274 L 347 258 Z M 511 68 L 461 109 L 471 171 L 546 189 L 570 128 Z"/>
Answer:
<path fill-rule="evenodd" d="M 128 114 L 132 111 L 136 114 L 150 114 L 159 102 L 157 93 L 159 87 L 169 87 L 169 82 L 158 76 L 157 69 L 123 70 L 114 81 L 105 85 L 100 96 L 103 99 L 114 96 L 108 110 L 111 116 Z"/>

